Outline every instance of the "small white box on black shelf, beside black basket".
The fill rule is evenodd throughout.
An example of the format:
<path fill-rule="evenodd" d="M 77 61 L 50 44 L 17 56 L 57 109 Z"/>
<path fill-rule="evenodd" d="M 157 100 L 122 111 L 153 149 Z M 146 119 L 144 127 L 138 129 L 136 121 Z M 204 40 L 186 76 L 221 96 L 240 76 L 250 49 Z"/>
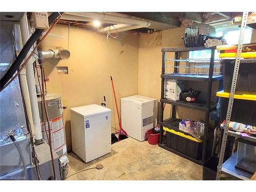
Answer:
<path fill-rule="evenodd" d="M 176 80 L 165 80 L 164 82 L 164 98 L 173 101 L 180 100 L 181 89 Z"/>

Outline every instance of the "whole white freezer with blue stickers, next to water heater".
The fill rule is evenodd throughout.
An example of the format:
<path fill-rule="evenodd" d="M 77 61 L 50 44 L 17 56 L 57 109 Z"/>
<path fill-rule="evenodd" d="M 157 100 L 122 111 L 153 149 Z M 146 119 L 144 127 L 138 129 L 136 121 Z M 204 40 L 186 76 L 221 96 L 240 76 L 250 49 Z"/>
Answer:
<path fill-rule="evenodd" d="M 86 163 L 111 152 L 111 110 L 97 104 L 70 109 L 72 151 Z"/>

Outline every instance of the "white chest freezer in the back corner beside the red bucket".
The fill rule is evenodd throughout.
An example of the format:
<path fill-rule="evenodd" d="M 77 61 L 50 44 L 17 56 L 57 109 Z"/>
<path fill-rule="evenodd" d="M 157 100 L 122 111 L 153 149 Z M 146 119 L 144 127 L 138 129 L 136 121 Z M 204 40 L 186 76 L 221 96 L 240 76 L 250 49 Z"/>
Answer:
<path fill-rule="evenodd" d="M 122 127 L 139 141 L 147 139 L 146 131 L 157 123 L 157 99 L 133 95 L 121 98 Z"/>

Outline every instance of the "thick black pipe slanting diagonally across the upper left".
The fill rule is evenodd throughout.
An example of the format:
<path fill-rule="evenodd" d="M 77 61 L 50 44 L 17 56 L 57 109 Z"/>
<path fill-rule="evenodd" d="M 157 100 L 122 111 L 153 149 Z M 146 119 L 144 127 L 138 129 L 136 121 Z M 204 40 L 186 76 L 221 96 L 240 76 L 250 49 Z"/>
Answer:
<path fill-rule="evenodd" d="M 49 25 L 53 23 L 53 21 L 59 16 L 58 12 L 53 12 L 48 17 Z M 29 37 L 28 41 L 18 54 L 17 58 L 13 61 L 11 67 L 6 72 L 6 74 L 1 78 L 0 80 L 0 90 L 2 90 L 5 86 L 5 84 L 13 77 L 14 73 L 19 69 L 20 64 L 25 59 L 26 55 L 28 54 L 30 48 L 33 46 L 33 44 L 36 42 L 36 40 L 41 36 L 41 34 L 45 30 L 43 29 L 36 29 L 35 32 Z"/>

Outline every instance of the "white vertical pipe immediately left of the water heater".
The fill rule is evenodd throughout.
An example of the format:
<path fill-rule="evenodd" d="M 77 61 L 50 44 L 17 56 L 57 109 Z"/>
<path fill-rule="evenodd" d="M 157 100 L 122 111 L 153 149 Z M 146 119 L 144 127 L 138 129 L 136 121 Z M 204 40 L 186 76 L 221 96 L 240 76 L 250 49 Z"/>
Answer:
<path fill-rule="evenodd" d="M 22 32 L 22 42 L 23 42 L 23 45 L 25 45 L 25 43 L 27 42 L 30 36 L 29 28 L 28 28 L 28 19 L 27 19 L 26 13 L 24 14 L 23 18 L 20 20 L 20 30 Z M 27 54 L 25 59 L 28 58 L 29 54 L 30 53 Z M 41 133 L 41 125 L 40 125 L 38 104 L 37 104 L 37 98 L 36 98 L 35 77 L 34 77 L 32 58 L 30 58 L 27 63 L 26 74 L 27 74 L 27 81 L 28 81 L 28 88 L 29 88 L 31 110 L 33 114 L 32 118 L 33 118 L 34 132 L 35 132 L 35 142 L 40 143 L 42 141 L 42 133 Z"/>

